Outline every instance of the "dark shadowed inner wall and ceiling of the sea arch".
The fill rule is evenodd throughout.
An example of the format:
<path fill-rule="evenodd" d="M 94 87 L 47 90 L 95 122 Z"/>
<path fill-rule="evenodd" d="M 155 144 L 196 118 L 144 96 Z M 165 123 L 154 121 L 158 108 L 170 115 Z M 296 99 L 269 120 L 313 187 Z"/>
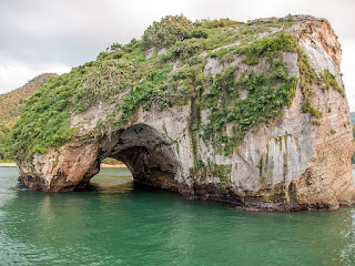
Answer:
<path fill-rule="evenodd" d="M 132 173 L 134 182 L 162 188 L 178 186 L 174 176 L 180 164 L 175 154 L 169 140 L 150 125 L 135 124 L 104 135 L 98 157 L 84 174 L 79 188 L 89 185 L 108 157 L 122 162 Z"/>

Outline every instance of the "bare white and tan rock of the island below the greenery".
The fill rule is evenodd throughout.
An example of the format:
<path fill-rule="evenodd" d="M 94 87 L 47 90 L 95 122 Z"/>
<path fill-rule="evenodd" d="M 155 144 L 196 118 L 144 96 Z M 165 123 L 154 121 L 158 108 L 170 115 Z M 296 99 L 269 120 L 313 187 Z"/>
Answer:
<path fill-rule="evenodd" d="M 315 72 L 329 70 L 343 86 L 341 48 L 328 22 L 296 23 L 292 33 Z M 298 78 L 297 54 L 282 55 L 290 76 Z M 263 59 L 248 66 L 236 57 L 231 64 L 239 66 L 237 78 L 251 68 L 255 73 L 267 69 Z M 209 58 L 205 72 L 214 75 L 225 66 Z M 245 99 L 247 91 L 240 94 Z M 314 88 L 311 101 L 323 113 L 321 125 L 302 112 L 304 95 L 297 88 L 284 114 L 252 129 L 229 156 L 204 142 L 201 130 L 192 129 L 191 102 L 164 111 L 141 109 L 124 129 L 101 135 L 93 133 L 94 127 L 113 105 L 99 103 L 72 117 L 72 125 L 80 125 L 79 134 L 85 139 L 19 162 L 20 178 L 34 190 L 69 191 L 89 183 L 100 161 L 112 156 L 124 162 L 136 181 L 193 197 L 233 202 L 250 209 L 336 208 L 355 198 L 349 110 L 346 98 L 332 89 Z M 207 122 L 207 110 L 200 111 L 200 123 Z M 196 167 L 196 154 L 204 164 L 201 167 Z"/>

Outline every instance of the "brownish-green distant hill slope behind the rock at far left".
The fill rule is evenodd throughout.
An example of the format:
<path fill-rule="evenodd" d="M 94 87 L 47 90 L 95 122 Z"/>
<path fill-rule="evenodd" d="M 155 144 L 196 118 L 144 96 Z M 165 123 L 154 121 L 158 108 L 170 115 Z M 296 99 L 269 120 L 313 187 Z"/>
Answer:
<path fill-rule="evenodd" d="M 32 95 L 52 76 L 58 76 L 58 74 L 40 74 L 27 82 L 23 86 L 8 93 L 0 94 L 0 124 L 12 124 L 20 115 L 23 100 Z"/>

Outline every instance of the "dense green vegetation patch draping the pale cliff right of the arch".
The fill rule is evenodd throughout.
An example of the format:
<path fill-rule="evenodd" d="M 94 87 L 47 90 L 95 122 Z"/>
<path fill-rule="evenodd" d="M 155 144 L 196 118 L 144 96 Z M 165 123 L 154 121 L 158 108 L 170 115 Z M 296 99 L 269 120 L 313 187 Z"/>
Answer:
<path fill-rule="evenodd" d="M 292 52 L 296 48 L 293 37 L 284 32 L 246 47 L 239 47 L 234 52 L 239 55 L 245 54 L 245 63 L 257 64 L 260 58 L 264 58 L 268 70 L 261 74 L 255 74 L 252 70 L 242 72 L 235 81 L 237 66 L 232 66 L 211 79 L 210 90 L 203 96 L 203 106 L 210 110 L 210 122 L 204 127 L 204 137 L 212 140 L 214 145 L 223 146 L 225 155 L 233 152 L 248 130 L 256 130 L 291 105 L 297 79 L 288 76 L 280 51 Z M 241 90 L 247 91 L 244 100 L 239 95 Z M 232 124 L 230 133 L 226 132 L 229 123 Z"/>

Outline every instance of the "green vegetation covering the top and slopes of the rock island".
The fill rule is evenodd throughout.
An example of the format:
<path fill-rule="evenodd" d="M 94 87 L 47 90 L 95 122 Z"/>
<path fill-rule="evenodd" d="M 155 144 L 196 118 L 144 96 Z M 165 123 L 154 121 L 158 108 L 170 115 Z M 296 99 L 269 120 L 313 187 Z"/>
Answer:
<path fill-rule="evenodd" d="M 114 43 L 97 61 L 73 68 L 34 93 L 14 126 L 12 157 L 23 160 L 75 139 L 81 125 L 71 124 L 71 117 L 100 102 L 112 104 L 112 112 L 98 122 L 94 134 L 134 122 L 140 108 L 163 111 L 191 103 L 195 116 L 189 126 L 191 136 L 202 134 L 221 152 L 231 154 L 247 131 L 268 123 L 292 103 L 297 79 L 288 75 L 282 51 L 302 51 L 282 29 L 294 23 L 242 23 L 229 19 L 191 22 L 182 16 L 165 17 L 154 22 L 142 40 L 133 39 L 125 45 Z M 248 65 L 264 59 L 267 70 L 239 70 L 232 64 L 236 58 Z M 307 82 L 317 78 L 303 60 L 305 55 L 301 58 L 300 82 L 303 93 L 311 95 Z M 222 63 L 221 73 L 207 73 L 205 66 L 211 59 Z M 247 92 L 246 99 L 240 98 L 241 91 Z M 200 123 L 203 109 L 209 110 L 206 124 Z M 312 105 L 305 105 L 304 111 L 322 117 Z M 200 157 L 194 160 L 199 162 Z"/>

